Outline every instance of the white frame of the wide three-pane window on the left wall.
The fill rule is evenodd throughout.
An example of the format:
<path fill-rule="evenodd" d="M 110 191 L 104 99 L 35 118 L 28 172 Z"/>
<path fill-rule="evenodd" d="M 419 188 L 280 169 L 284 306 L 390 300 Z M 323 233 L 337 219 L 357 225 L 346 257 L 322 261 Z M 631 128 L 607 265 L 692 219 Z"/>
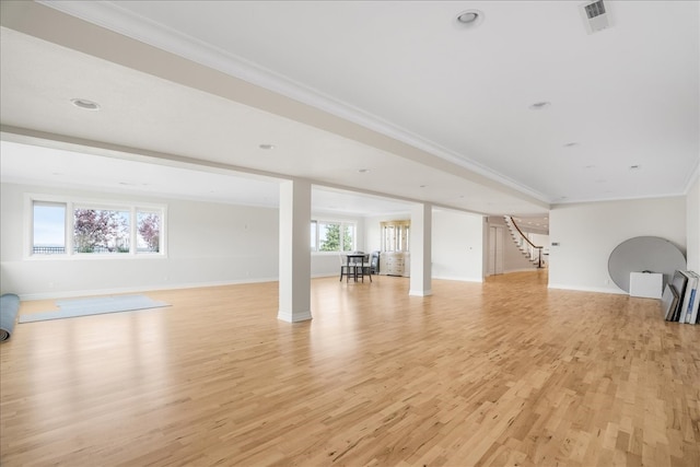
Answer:
<path fill-rule="evenodd" d="M 46 202 L 66 206 L 65 238 L 66 253 L 34 253 L 34 203 Z M 73 223 L 75 209 L 104 209 L 129 212 L 129 253 L 77 253 L 74 250 Z M 137 212 L 156 212 L 160 214 L 159 252 L 138 252 Z M 138 201 L 115 201 L 68 196 L 25 194 L 24 197 L 24 252 L 28 260 L 83 260 L 83 259 L 144 259 L 167 258 L 167 205 Z"/>

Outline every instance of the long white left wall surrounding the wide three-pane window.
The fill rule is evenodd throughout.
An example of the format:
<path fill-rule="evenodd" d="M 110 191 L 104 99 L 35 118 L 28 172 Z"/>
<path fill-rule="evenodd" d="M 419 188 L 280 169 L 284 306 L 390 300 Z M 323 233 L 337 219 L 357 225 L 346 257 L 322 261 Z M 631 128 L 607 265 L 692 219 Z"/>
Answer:
<path fill-rule="evenodd" d="M 277 280 L 277 209 L 2 184 L 0 283 L 22 299 Z M 167 205 L 167 257 L 25 258 L 24 194 Z"/>

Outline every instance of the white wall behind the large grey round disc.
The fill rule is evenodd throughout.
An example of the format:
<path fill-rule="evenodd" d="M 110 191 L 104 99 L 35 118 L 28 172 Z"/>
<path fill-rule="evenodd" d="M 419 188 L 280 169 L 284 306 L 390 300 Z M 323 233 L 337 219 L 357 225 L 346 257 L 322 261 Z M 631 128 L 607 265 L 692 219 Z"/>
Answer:
<path fill-rule="evenodd" d="M 560 205 L 549 213 L 549 287 L 623 293 L 608 258 L 620 243 L 658 236 L 686 253 L 685 197 Z"/>

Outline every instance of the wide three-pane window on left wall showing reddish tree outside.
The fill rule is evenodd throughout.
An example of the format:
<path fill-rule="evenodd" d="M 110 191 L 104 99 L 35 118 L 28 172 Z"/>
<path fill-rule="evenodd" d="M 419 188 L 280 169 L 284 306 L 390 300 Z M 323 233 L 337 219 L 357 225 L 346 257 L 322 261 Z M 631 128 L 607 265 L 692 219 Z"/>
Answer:
<path fill-rule="evenodd" d="M 165 207 L 32 200 L 31 255 L 163 255 Z"/>

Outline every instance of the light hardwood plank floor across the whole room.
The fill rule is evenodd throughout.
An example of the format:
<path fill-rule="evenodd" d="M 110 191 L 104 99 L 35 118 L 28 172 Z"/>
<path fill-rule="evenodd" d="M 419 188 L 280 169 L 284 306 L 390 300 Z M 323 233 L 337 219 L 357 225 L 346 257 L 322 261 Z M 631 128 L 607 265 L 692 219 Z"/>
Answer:
<path fill-rule="evenodd" d="M 18 325 L 0 464 L 700 465 L 700 326 L 546 272 L 433 292 L 316 279 L 289 324 L 277 283 L 158 291 L 171 307 Z"/>

